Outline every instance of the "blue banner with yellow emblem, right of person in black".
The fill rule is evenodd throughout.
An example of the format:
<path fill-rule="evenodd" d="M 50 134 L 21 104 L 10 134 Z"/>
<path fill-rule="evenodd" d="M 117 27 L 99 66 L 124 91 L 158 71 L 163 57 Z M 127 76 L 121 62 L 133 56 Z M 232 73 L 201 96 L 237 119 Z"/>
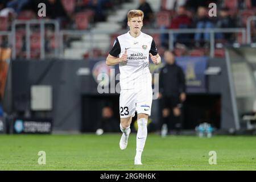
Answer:
<path fill-rule="evenodd" d="M 176 63 L 183 68 L 188 93 L 204 93 L 207 91 L 204 72 L 207 69 L 208 57 L 176 57 Z"/>

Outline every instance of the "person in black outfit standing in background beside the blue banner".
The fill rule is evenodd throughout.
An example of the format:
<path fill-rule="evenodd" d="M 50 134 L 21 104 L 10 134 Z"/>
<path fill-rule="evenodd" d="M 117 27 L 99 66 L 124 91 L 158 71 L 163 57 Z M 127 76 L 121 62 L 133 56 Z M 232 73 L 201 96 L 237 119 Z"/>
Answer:
<path fill-rule="evenodd" d="M 175 63 L 172 51 L 164 52 L 166 65 L 160 69 L 159 99 L 162 101 L 162 124 L 167 124 L 168 132 L 175 124 L 177 133 L 181 129 L 181 106 L 186 99 L 185 76 L 183 70 Z"/>

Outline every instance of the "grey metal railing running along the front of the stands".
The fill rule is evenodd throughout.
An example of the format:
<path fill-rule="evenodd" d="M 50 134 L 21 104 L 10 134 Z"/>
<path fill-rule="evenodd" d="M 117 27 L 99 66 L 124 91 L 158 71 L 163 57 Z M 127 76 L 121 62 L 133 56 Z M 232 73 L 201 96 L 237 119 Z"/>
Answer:
<path fill-rule="evenodd" d="M 238 33 L 241 34 L 241 43 L 251 43 L 251 36 L 247 36 L 247 41 L 246 41 L 246 34 L 251 35 L 251 21 L 256 20 L 256 16 L 250 16 L 247 19 L 247 30 L 246 28 L 211 28 L 211 29 L 179 29 L 179 30 L 160 30 L 160 29 L 144 29 L 143 32 L 146 32 L 147 34 L 168 34 L 168 49 L 173 50 L 174 49 L 174 35 L 175 34 L 195 34 L 195 33 L 209 33 L 210 34 L 210 41 L 209 41 L 209 56 L 214 57 L 214 50 L 215 50 L 215 43 L 216 43 L 216 38 L 215 34 L 216 33 Z M 16 46 L 15 46 L 15 36 L 16 36 L 16 26 L 23 24 L 25 26 L 25 34 L 26 34 L 26 41 L 25 41 L 25 47 L 26 47 L 26 59 L 31 58 L 31 40 L 30 40 L 30 35 L 31 35 L 31 30 L 30 26 L 33 24 L 37 24 L 40 27 L 40 59 L 45 59 L 46 58 L 46 52 L 45 52 L 45 38 L 44 34 L 46 31 L 46 24 L 53 24 L 55 27 L 54 30 L 54 35 L 55 35 L 55 45 L 57 45 L 54 49 L 54 54 L 53 57 L 61 57 L 65 58 L 64 55 L 64 39 L 67 38 L 68 36 L 83 36 L 83 35 L 89 35 L 89 43 L 92 45 L 90 46 L 93 48 L 93 44 L 95 45 L 96 42 L 93 40 L 93 36 L 97 36 L 100 34 L 108 34 L 109 36 L 112 34 L 115 35 L 120 35 L 123 34 L 124 32 L 127 32 L 127 30 L 121 30 L 118 32 L 113 32 L 111 30 L 102 30 L 102 31 L 80 31 L 80 30 L 61 30 L 60 31 L 60 26 L 59 22 L 57 20 L 14 20 L 12 24 L 12 29 L 11 31 L 6 31 L 6 32 L 0 32 L 0 35 L 7 35 L 8 36 L 8 41 L 12 47 L 12 58 L 16 59 Z M 106 48 L 104 51 L 108 52 L 109 49 L 111 48 L 109 41 L 109 47 Z M 238 44 L 239 46 L 239 44 Z M 92 57 L 92 50 L 89 50 L 89 57 Z M 82 59 L 82 57 L 81 57 Z"/>

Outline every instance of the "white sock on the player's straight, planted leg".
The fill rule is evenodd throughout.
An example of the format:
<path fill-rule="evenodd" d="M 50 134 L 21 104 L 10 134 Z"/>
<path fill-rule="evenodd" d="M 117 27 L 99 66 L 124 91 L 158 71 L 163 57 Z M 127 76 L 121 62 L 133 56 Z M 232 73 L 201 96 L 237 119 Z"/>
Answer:
<path fill-rule="evenodd" d="M 137 133 L 137 148 L 135 158 L 141 159 L 143 148 L 147 139 L 147 119 L 141 118 L 138 120 L 138 133 Z"/>

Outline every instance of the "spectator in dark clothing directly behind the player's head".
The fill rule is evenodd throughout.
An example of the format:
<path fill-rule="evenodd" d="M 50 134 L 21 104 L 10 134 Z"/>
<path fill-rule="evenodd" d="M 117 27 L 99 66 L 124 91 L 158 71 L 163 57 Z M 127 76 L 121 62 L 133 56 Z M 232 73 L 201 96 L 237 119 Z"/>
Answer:
<path fill-rule="evenodd" d="M 143 27 L 151 26 L 152 21 L 154 20 L 154 12 L 151 9 L 150 3 L 146 0 L 139 0 L 139 7 L 137 7 L 137 10 L 142 10 L 144 13 Z M 127 28 L 127 16 L 123 20 L 122 28 Z"/>

